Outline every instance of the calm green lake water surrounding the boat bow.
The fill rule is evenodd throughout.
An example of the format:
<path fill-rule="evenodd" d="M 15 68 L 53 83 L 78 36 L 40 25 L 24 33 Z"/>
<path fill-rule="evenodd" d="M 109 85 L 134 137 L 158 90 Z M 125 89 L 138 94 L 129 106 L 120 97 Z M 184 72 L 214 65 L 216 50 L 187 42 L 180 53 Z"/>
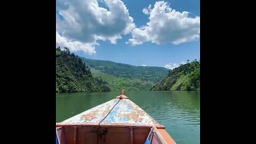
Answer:
<path fill-rule="evenodd" d="M 85 110 L 121 95 L 120 92 L 56 94 L 56 122 L 62 122 Z M 177 144 L 200 143 L 200 91 L 126 91 Z"/>

